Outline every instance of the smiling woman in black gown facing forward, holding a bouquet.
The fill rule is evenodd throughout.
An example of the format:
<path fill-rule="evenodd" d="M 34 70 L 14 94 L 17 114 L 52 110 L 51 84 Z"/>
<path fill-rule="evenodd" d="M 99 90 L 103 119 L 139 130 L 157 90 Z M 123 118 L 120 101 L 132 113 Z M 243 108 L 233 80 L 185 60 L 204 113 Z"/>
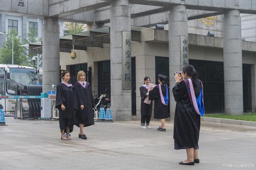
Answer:
<path fill-rule="evenodd" d="M 148 96 L 148 88 L 150 84 L 150 78 L 145 77 L 144 78 L 144 84 L 143 86 L 140 87 L 140 97 L 141 97 L 141 102 L 140 102 L 140 115 L 141 115 L 141 121 L 140 125 L 142 129 L 151 129 L 149 127 L 150 123 L 150 118 L 152 115 L 152 102 L 150 104 L 144 103 L 144 100 Z M 145 126 L 145 121 L 146 121 L 146 126 Z"/>

